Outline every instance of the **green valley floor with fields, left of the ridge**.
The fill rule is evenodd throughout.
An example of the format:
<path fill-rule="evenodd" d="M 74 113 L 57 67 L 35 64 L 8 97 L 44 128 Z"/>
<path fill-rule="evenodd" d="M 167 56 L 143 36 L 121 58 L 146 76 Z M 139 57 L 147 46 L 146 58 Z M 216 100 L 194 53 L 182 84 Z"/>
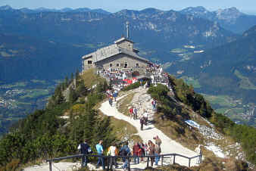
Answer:
<path fill-rule="evenodd" d="M 45 107 L 60 80 L 31 79 L 24 82 L 0 84 L 0 135 L 8 127 L 36 109 Z"/>

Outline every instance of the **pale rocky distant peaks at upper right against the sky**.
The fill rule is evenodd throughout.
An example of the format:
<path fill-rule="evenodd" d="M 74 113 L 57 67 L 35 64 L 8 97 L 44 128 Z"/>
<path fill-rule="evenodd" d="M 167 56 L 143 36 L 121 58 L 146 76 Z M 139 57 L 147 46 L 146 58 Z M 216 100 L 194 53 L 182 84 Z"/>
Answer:
<path fill-rule="evenodd" d="M 255 15 L 243 14 L 237 8 L 226 8 L 217 11 L 208 11 L 204 7 L 189 7 L 180 11 L 183 14 L 190 14 L 194 17 L 201 17 L 207 20 L 216 21 L 226 30 L 234 33 L 243 33 L 256 23 Z"/>

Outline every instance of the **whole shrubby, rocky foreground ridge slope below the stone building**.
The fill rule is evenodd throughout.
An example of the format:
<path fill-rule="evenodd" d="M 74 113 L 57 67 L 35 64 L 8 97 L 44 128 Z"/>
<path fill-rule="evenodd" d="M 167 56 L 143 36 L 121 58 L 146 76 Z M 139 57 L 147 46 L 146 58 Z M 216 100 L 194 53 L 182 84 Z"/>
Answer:
<path fill-rule="evenodd" d="M 26 119 L 17 123 L 14 129 L 12 129 L 12 132 L 0 139 L 1 169 L 8 168 L 8 166 L 19 166 L 38 158 L 46 159 L 48 157 L 63 157 L 73 154 L 76 152 L 77 144 L 81 138 L 88 138 L 88 143 L 91 145 L 92 151 L 95 151 L 95 145 L 99 139 L 103 139 L 105 142 L 103 144 L 104 149 L 107 149 L 113 142 L 123 141 L 123 138 L 128 138 L 130 143 L 135 141 L 132 138 L 133 136 L 126 135 L 130 133 L 128 132 L 129 127 L 124 125 L 122 120 L 115 120 L 116 122 L 111 124 L 113 118 L 103 117 L 99 111 L 96 111 L 98 109 L 98 105 L 96 104 L 101 104 L 101 101 L 104 101 L 105 91 L 108 89 L 108 86 L 105 84 L 104 79 L 93 75 L 92 70 L 89 72 L 84 73 L 84 75 L 77 75 L 74 80 L 67 80 L 66 83 L 61 83 L 55 89 L 55 95 L 49 99 L 49 104 L 45 110 L 37 110 L 30 114 Z M 134 91 L 142 92 L 142 95 L 134 95 L 133 97 L 136 98 L 137 96 L 138 100 L 139 98 L 145 97 L 142 98 L 143 104 L 139 105 L 145 105 L 147 109 L 151 108 L 151 102 L 148 101 L 148 98 L 150 100 L 150 96 L 158 100 L 158 110 L 154 114 L 154 117 L 150 118 L 154 122 L 146 126 L 148 129 L 145 129 L 145 132 L 150 132 L 151 124 L 158 124 L 161 127 L 159 129 L 163 132 L 165 130 L 164 133 L 167 136 L 171 132 L 171 135 L 176 137 L 173 139 L 174 141 L 187 143 L 192 149 L 198 144 L 204 145 L 203 155 L 205 163 L 202 168 L 199 166 L 203 170 L 206 170 L 209 166 L 214 167 L 215 170 L 229 169 L 230 165 L 225 164 L 229 160 L 214 157 L 214 154 L 209 153 L 209 150 L 207 150 L 207 142 L 215 144 L 219 140 L 223 141 L 223 147 L 228 146 L 226 147 L 227 149 L 233 149 L 236 141 L 238 141 L 245 147 L 248 159 L 252 163 L 255 163 L 255 154 L 254 151 L 251 151 L 255 147 L 255 129 L 248 126 L 238 126 L 226 117 L 215 113 L 211 109 L 211 106 L 204 101 L 204 98 L 196 94 L 181 79 L 175 79 L 172 76 L 169 79 L 173 93 L 170 93 L 170 89 L 167 86 L 160 84 L 158 86 L 151 86 L 147 92 L 149 95 L 145 94 L 145 90 L 144 92 L 139 90 L 142 88 Z M 77 86 L 74 86 L 74 81 L 76 81 Z M 85 84 L 94 85 L 95 83 L 97 84 L 95 89 L 89 91 L 89 87 L 85 87 Z M 74 98 L 68 98 L 68 101 L 64 101 L 63 92 L 65 89 L 73 89 L 75 93 Z M 120 92 L 124 96 L 129 95 L 129 93 L 133 93 L 133 90 L 130 92 Z M 85 98 L 86 100 L 84 100 Z M 132 104 L 133 100 L 128 103 Z M 108 105 L 108 102 L 102 104 L 103 107 L 105 105 Z M 111 111 L 113 110 L 111 107 Z M 105 112 L 108 113 L 109 111 L 105 110 Z M 120 114 L 118 116 L 120 117 Z M 128 120 L 130 119 L 128 118 Z M 201 129 L 207 130 L 207 135 L 203 135 L 203 132 L 200 132 L 201 129 L 189 129 L 185 120 L 195 120 L 195 122 L 201 125 Z M 134 122 L 139 123 L 139 120 L 130 120 L 129 123 Z M 122 123 L 120 128 L 114 132 L 112 126 L 120 123 Z M 138 127 L 137 124 L 135 125 Z M 236 129 L 243 129 L 243 132 L 240 133 Z M 124 137 L 117 138 L 117 134 L 119 135 L 123 131 L 125 132 Z M 250 134 L 248 134 L 249 131 L 251 131 Z M 213 132 L 214 134 L 212 134 Z M 133 132 L 133 134 L 136 134 L 136 132 Z M 221 136 L 216 139 L 216 134 Z M 153 136 L 151 134 L 148 135 L 149 138 Z M 251 141 L 246 141 L 246 138 L 249 138 Z M 136 141 L 140 140 L 138 139 Z M 166 142 L 164 141 L 164 143 Z M 172 143 L 174 144 L 174 142 Z M 235 153 L 239 146 L 239 144 L 236 145 Z M 163 149 L 168 148 L 163 147 Z M 241 150 L 241 148 L 239 149 Z M 179 149 L 176 150 L 179 151 Z M 236 157 L 233 156 L 233 152 L 231 151 L 227 151 L 227 153 L 231 159 Z M 242 159 L 243 154 L 240 157 Z M 179 157 L 176 157 L 176 160 L 179 160 Z M 170 159 L 167 161 L 170 162 Z M 238 162 L 242 163 L 243 168 L 248 168 L 248 165 L 244 161 Z M 216 163 L 218 163 L 217 166 L 214 166 Z M 236 167 L 236 164 L 232 166 Z"/>

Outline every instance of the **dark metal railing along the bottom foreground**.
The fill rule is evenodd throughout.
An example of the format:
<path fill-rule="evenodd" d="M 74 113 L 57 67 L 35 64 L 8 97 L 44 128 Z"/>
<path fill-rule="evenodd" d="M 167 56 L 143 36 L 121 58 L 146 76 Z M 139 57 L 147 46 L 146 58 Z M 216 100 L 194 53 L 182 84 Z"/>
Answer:
<path fill-rule="evenodd" d="M 149 159 L 151 157 L 156 157 L 156 155 L 146 155 L 146 156 L 143 156 L 143 155 L 141 155 L 141 156 L 103 156 L 103 155 L 97 155 L 97 154 L 76 154 L 76 155 L 67 156 L 67 157 L 59 157 L 59 158 L 49 159 L 49 160 L 46 160 L 46 162 L 49 163 L 49 171 L 52 171 L 52 163 L 54 161 L 70 159 L 70 158 L 77 158 L 77 157 L 79 157 L 79 158 L 81 158 L 81 157 L 102 157 L 104 160 L 107 160 L 107 170 L 112 170 L 112 168 L 110 168 L 111 158 L 114 158 L 115 160 L 117 160 L 117 158 L 121 158 L 121 159 L 125 158 L 125 159 L 128 159 L 127 160 L 127 162 L 128 162 L 128 170 L 130 170 L 130 158 L 135 158 L 135 157 L 147 158 L 147 167 L 148 167 L 149 166 Z M 186 157 L 186 156 L 183 156 L 181 154 L 159 154 L 158 157 L 161 158 L 161 166 L 164 165 L 164 158 L 171 158 L 171 157 L 173 157 L 173 164 L 175 164 L 176 157 L 183 157 L 183 158 L 188 159 L 189 167 L 190 167 L 192 159 L 198 158 L 198 163 L 201 163 L 202 154 L 199 154 L 198 156 L 195 156 L 195 157 Z M 83 167 L 82 163 L 81 163 L 81 167 Z"/>

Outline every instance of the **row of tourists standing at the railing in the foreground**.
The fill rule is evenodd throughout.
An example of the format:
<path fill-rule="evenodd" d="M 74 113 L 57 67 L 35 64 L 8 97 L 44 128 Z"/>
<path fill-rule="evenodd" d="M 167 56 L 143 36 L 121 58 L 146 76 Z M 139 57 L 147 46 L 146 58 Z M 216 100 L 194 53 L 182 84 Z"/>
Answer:
<path fill-rule="evenodd" d="M 153 142 L 155 141 L 155 143 Z M 88 154 L 92 154 L 92 148 L 87 143 L 85 139 L 77 148 L 81 154 L 85 154 L 82 157 L 82 166 L 86 167 L 88 160 Z M 98 155 L 98 161 L 96 165 L 96 169 L 100 166 L 102 169 L 106 167 L 106 157 L 105 154 L 109 157 L 108 164 L 110 169 L 117 169 L 118 163 L 120 163 L 120 168 L 128 169 L 128 163 L 133 162 L 134 164 L 139 164 L 140 162 L 146 162 L 146 156 L 149 156 L 151 166 L 153 166 L 154 162 L 155 165 L 158 166 L 158 161 L 160 160 L 161 154 L 161 139 L 156 135 L 153 137 L 153 140 L 148 140 L 148 142 L 137 141 L 134 145 L 128 145 L 128 141 L 122 143 L 122 146 L 118 148 L 117 143 L 113 143 L 105 152 L 103 148 L 103 141 L 100 140 L 98 144 L 95 146 L 96 154 Z M 117 158 L 117 156 L 119 156 Z M 128 157 L 129 156 L 129 157 Z M 132 157 L 130 157 L 132 156 Z"/>

